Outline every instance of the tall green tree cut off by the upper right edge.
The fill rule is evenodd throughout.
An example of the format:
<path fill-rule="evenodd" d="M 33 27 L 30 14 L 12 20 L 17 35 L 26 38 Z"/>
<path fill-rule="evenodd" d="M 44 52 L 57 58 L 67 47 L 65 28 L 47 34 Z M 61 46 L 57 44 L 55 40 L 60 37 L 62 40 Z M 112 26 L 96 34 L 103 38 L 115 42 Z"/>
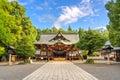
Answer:
<path fill-rule="evenodd" d="M 120 46 L 120 0 L 111 0 L 105 5 L 108 10 L 109 39 L 113 46 Z"/>

